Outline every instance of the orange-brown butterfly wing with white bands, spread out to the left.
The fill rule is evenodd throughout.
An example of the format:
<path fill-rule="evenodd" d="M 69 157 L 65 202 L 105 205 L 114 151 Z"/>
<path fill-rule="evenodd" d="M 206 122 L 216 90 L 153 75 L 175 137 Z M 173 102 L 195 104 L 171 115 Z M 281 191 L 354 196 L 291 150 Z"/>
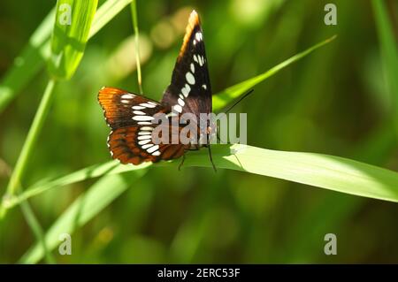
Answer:
<path fill-rule="evenodd" d="M 114 159 L 122 164 L 157 163 L 178 158 L 184 154 L 182 144 L 154 144 L 151 122 L 158 113 L 168 110 L 163 105 L 141 95 L 119 88 L 102 88 L 98 94 L 111 133 L 108 147 Z M 169 128 L 172 132 L 172 128 Z"/>

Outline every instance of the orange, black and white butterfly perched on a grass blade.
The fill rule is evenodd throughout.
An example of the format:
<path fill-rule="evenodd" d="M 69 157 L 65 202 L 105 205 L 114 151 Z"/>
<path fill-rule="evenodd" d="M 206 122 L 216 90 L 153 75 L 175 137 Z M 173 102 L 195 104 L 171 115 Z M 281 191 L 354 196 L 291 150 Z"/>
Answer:
<path fill-rule="evenodd" d="M 152 120 L 158 114 L 172 118 L 191 113 L 199 121 L 200 113 L 211 112 L 211 87 L 203 30 L 196 11 L 192 11 L 189 16 L 180 53 L 172 71 L 172 81 L 160 103 L 123 89 L 107 87 L 99 91 L 98 101 L 103 108 L 106 123 L 111 127 L 108 148 L 111 156 L 120 163 L 157 163 L 183 156 L 182 164 L 188 150 L 207 147 L 211 164 L 216 170 L 211 158 L 212 129 L 209 123 L 204 130 L 197 126 L 197 134 L 205 137 L 202 143 L 159 144 L 152 140 L 152 133 L 158 126 L 152 123 Z M 180 133 L 182 128 L 180 124 L 174 124 L 168 129 L 170 132 L 177 129 L 177 133 Z"/>

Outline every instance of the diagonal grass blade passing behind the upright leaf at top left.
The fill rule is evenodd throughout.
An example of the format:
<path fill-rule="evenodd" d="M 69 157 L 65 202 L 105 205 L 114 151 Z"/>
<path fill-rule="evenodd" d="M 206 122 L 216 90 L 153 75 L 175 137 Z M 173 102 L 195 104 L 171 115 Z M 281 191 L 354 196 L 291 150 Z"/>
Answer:
<path fill-rule="evenodd" d="M 96 11 L 96 16 L 88 35 L 93 37 L 111 21 L 132 0 L 108 0 Z M 42 24 L 37 27 L 29 39 L 29 43 L 16 58 L 14 65 L 0 82 L 0 112 L 12 98 L 19 94 L 34 75 L 42 69 L 44 62 L 50 57 L 50 34 L 54 24 L 55 9 L 51 10 Z"/>

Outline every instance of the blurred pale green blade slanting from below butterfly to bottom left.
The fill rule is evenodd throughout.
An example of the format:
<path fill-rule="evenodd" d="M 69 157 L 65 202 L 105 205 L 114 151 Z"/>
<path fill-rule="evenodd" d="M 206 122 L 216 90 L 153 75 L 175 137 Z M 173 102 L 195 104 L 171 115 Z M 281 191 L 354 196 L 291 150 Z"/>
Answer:
<path fill-rule="evenodd" d="M 81 194 L 45 234 L 46 247 L 52 250 L 60 243 L 59 234 L 72 234 L 77 228 L 88 223 L 128 187 L 134 187 L 134 180 L 142 177 L 146 170 L 130 171 L 126 174 L 107 175 L 99 179 L 88 191 Z M 73 239 L 72 239 L 73 240 Z M 23 255 L 19 263 L 37 263 L 43 257 L 40 242 Z"/>

